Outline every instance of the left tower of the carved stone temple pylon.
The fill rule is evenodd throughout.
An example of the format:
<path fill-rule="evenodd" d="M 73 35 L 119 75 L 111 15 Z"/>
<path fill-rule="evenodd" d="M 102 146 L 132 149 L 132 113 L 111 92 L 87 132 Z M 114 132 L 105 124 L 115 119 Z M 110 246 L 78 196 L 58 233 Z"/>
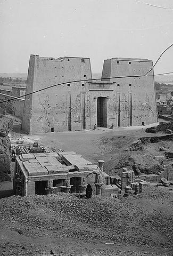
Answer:
<path fill-rule="evenodd" d="M 88 58 L 39 58 L 31 55 L 26 93 L 68 82 L 26 97 L 22 129 L 30 134 L 87 129 L 90 115 L 88 84 L 70 81 L 92 78 Z M 85 108 L 88 102 L 88 108 Z M 89 127 L 90 128 L 90 127 Z"/>

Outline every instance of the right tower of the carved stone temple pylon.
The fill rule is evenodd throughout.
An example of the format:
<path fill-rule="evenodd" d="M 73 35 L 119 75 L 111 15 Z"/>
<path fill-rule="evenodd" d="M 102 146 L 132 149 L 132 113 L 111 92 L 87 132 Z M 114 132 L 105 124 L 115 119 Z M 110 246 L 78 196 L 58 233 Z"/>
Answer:
<path fill-rule="evenodd" d="M 158 122 L 153 62 L 147 59 L 112 58 L 104 60 L 102 80 L 114 82 L 118 126 Z M 143 76 L 140 76 L 143 75 Z M 112 78 L 121 76 L 139 76 Z"/>

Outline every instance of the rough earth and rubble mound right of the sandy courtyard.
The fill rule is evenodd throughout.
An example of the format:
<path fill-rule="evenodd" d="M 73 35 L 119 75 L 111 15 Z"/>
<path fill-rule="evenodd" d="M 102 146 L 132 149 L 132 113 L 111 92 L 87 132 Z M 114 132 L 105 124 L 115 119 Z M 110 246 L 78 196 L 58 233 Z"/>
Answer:
<path fill-rule="evenodd" d="M 160 151 L 163 147 L 167 151 L 173 152 L 172 135 L 162 135 L 158 134 L 158 137 L 156 137 L 153 134 L 147 134 L 147 137 L 138 137 L 140 140 L 135 140 L 132 136 L 121 138 L 114 136 L 109 138 L 108 149 L 110 149 L 110 159 L 106 159 L 104 171 L 109 175 L 121 175 L 122 167 L 129 167 L 129 169 L 133 169 L 134 171 L 135 167 L 138 167 L 141 173 L 157 174 L 162 170 L 162 165 L 154 157 L 165 157 L 164 151 Z M 155 143 L 150 142 L 161 137 L 163 137 L 163 140 L 158 139 Z M 108 139 L 101 139 L 100 145 L 104 146 Z M 108 151 L 108 149 L 105 147 L 104 150 Z"/>

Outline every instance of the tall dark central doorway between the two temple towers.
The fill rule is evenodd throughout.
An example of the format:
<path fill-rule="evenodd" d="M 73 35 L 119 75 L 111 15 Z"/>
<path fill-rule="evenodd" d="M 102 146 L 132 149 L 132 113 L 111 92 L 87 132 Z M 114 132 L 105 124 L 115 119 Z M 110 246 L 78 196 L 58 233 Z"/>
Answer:
<path fill-rule="evenodd" d="M 97 99 L 97 126 L 107 127 L 106 97 Z"/>

